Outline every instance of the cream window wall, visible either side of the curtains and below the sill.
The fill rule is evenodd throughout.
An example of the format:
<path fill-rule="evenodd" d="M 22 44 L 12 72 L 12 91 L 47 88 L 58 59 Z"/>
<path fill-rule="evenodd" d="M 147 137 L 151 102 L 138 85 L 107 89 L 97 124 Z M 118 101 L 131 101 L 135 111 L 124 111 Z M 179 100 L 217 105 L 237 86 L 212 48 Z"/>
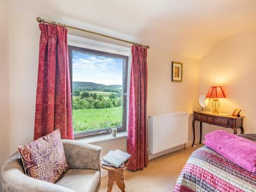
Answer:
<path fill-rule="evenodd" d="M 10 153 L 33 140 L 35 94 L 40 31 L 34 17 L 10 13 Z M 183 82 L 170 80 L 170 63 L 183 62 Z M 199 61 L 148 50 L 148 115 L 196 109 L 199 92 Z M 189 141 L 191 138 L 189 118 Z M 126 150 L 126 138 L 95 143 L 103 153 Z"/>

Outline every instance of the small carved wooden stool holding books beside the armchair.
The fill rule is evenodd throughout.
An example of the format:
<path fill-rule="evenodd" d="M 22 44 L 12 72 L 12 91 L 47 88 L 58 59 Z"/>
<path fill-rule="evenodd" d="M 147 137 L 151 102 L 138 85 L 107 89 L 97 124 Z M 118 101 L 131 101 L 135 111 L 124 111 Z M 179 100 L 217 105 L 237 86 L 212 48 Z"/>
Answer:
<path fill-rule="evenodd" d="M 103 156 L 104 157 L 104 156 Z M 112 166 L 106 166 L 102 165 L 101 167 L 105 170 L 108 170 L 109 174 L 109 181 L 108 181 L 108 192 L 112 191 L 113 182 L 116 181 L 117 186 L 122 190 L 122 192 L 125 192 L 125 184 L 123 179 L 123 168 L 127 165 L 128 160 L 124 163 L 123 167 L 112 167 Z"/>

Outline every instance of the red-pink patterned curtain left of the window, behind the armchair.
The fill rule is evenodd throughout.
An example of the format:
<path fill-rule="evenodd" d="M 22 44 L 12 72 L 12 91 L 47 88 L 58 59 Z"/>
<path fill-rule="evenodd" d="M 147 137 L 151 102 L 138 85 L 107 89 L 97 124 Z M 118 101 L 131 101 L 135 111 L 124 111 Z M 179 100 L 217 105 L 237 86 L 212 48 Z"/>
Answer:
<path fill-rule="evenodd" d="M 39 24 L 39 64 L 34 140 L 60 130 L 62 139 L 73 139 L 68 30 Z"/>

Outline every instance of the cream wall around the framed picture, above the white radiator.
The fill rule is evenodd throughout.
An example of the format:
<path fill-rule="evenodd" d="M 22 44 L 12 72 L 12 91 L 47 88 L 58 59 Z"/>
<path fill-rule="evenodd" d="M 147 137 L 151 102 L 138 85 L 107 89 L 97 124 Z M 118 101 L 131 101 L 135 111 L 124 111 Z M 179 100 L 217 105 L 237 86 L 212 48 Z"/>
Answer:
<path fill-rule="evenodd" d="M 148 49 L 147 55 L 147 115 L 189 112 L 188 141 L 192 141 L 192 114 L 198 106 L 199 61 L 154 48 Z M 172 82 L 172 61 L 183 63 L 182 82 Z"/>

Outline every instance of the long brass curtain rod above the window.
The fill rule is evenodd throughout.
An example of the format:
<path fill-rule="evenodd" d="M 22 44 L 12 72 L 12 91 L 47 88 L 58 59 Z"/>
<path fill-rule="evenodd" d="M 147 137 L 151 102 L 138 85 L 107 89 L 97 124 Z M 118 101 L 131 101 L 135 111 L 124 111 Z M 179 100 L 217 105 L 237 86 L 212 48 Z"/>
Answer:
<path fill-rule="evenodd" d="M 68 25 L 65 25 L 65 24 L 60 24 L 60 23 L 52 22 L 51 20 L 42 19 L 40 17 L 36 17 L 36 20 L 37 20 L 38 23 L 46 23 L 46 24 L 58 25 L 58 26 L 74 29 L 74 30 L 77 30 L 77 31 L 82 31 L 82 32 L 91 33 L 91 34 L 102 36 L 102 37 L 106 37 L 106 38 L 111 38 L 111 39 L 127 42 L 129 44 L 133 44 L 133 45 L 136 45 L 136 46 L 141 46 L 141 47 L 144 47 L 144 48 L 147 48 L 147 49 L 150 48 L 150 46 L 138 44 L 137 42 L 132 42 L 132 41 L 129 41 L 129 40 L 124 40 L 124 39 L 112 37 L 112 36 L 109 36 L 109 35 L 104 35 L 104 34 L 101 34 L 101 33 L 96 33 L 96 32 L 93 32 L 93 31 L 88 31 L 88 30 L 85 30 L 85 29 L 80 29 L 80 28 L 77 28 L 77 27 L 72 27 L 72 26 L 68 26 Z"/>

